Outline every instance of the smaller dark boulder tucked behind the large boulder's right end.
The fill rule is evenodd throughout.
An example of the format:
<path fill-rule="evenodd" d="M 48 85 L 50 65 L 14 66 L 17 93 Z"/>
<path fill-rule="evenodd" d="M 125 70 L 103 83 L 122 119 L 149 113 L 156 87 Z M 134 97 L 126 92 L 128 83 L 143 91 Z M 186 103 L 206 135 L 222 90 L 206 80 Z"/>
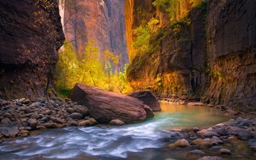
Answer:
<path fill-rule="evenodd" d="M 130 93 L 129 96 L 142 100 L 154 112 L 161 111 L 159 100 L 157 99 L 156 95 L 154 95 L 154 93 L 150 90 L 138 90 Z"/>

